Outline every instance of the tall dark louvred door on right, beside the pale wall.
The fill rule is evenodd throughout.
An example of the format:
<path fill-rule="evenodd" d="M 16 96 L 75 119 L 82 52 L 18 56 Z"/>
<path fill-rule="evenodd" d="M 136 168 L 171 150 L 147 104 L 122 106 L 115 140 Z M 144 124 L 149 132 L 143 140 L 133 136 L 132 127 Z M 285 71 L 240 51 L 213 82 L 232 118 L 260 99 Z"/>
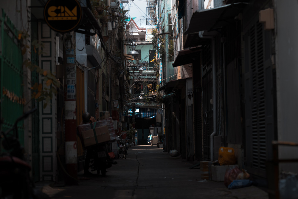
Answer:
<path fill-rule="evenodd" d="M 249 172 L 266 176 L 265 163 L 274 138 L 273 74 L 271 38 L 263 24 L 254 23 L 245 34 L 245 119 L 246 155 Z"/>

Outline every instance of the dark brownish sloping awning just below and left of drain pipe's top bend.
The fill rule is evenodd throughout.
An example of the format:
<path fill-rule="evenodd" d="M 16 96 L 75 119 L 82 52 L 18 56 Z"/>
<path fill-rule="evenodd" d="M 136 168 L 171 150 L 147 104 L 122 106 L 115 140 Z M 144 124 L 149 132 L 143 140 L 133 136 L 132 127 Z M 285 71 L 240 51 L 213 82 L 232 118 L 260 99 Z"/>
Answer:
<path fill-rule="evenodd" d="M 192 47 L 187 50 L 178 51 L 178 55 L 173 63 L 173 67 L 181 66 L 184 64 L 190 64 L 193 62 L 193 58 L 198 55 L 198 52 L 201 51 L 202 46 Z"/>

